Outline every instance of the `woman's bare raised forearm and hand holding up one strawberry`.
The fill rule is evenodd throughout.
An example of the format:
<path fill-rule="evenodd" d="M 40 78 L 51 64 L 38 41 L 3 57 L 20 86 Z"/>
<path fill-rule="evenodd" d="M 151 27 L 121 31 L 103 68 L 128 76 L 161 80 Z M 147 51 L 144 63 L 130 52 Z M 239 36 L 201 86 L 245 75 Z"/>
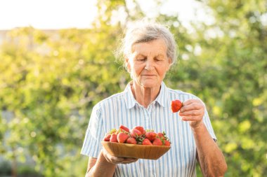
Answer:
<path fill-rule="evenodd" d="M 204 176 L 223 176 L 227 170 L 227 164 L 223 153 L 211 138 L 207 127 L 202 121 L 204 116 L 204 104 L 198 99 L 189 99 L 183 102 L 180 110 L 182 120 L 189 121 L 197 146 L 197 159 L 200 162 Z"/>

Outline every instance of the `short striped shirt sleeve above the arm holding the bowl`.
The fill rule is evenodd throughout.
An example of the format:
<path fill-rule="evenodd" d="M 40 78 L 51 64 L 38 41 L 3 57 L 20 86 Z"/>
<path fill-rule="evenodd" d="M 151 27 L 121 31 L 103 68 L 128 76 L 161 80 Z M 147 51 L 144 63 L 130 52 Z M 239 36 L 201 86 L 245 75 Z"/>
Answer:
<path fill-rule="evenodd" d="M 102 148 L 101 140 L 104 137 L 103 118 L 100 105 L 93 107 L 91 118 L 84 138 L 81 154 L 97 158 Z"/>

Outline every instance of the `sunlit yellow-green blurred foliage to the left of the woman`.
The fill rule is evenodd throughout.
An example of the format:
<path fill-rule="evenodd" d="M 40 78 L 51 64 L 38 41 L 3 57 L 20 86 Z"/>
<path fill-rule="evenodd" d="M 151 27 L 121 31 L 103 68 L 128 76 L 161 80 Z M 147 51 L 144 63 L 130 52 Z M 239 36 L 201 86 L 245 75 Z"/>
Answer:
<path fill-rule="evenodd" d="M 13 149 L 6 157 L 25 161 L 29 150 L 44 176 L 81 160 L 92 106 L 124 89 L 129 77 L 112 53 L 117 29 L 10 31 L 0 65 L 0 107 L 13 113 L 11 121 L 1 119 L 8 127 L 1 134 L 9 132 L 3 149 Z"/>

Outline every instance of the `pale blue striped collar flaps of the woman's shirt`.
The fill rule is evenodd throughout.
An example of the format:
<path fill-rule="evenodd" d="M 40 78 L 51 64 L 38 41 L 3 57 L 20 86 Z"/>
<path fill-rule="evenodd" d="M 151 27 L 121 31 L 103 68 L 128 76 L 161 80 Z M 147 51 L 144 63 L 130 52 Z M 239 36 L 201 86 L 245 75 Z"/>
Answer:
<path fill-rule="evenodd" d="M 131 92 L 131 83 L 128 83 L 126 85 L 126 88 L 124 90 L 124 98 L 125 98 L 126 108 L 130 109 L 133 108 L 133 106 L 138 105 L 138 102 L 133 97 L 133 92 Z M 157 96 L 155 101 L 162 107 L 165 107 L 168 104 L 167 87 L 163 82 L 160 87 L 159 95 Z"/>

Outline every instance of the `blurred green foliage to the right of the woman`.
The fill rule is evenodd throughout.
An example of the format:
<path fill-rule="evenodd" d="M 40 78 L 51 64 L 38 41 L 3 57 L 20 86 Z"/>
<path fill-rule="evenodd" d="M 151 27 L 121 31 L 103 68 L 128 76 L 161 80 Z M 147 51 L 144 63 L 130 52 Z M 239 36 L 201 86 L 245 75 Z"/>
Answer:
<path fill-rule="evenodd" d="M 263 176 L 267 27 L 261 18 L 267 13 L 266 3 L 206 1 L 206 5 L 214 24 L 193 24 L 196 33 L 180 41 L 181 62 L 171 83 L 207 104 L 228 162 L 226 176 Z M 194 53 L 199 47 L 201 52 Z"/>

